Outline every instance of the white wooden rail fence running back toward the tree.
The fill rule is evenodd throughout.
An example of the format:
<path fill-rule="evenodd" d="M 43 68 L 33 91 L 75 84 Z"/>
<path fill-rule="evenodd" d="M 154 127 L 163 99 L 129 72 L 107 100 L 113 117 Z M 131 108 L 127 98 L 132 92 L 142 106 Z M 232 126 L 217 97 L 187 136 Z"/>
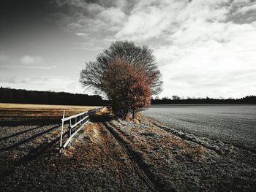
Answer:
<path fill-rule="evenodd" d="M 89 122 L 89 118 L 91 115 L 94 115 L 95 112 L 98 112 L 99 110 L 102 110 L 104 107 L 99 107 L 94 110 L 89 110 L 86 112 L 80 112 L 76 115 L 69 116 L 65 118 L 65 111 L 63 112 L 63 118 L 61 119 L 61 141 L 60 141 L 60 151 L 67 147 L 69 142 L 72 140 L 72 138 L 75 136 L 75 134 L 80 131 L 83 126 Z M 64 123 L 66 121 L 69 121 L 69 138 L 67 141 L 63 144 L 63 134 L 64 134 Z"/>

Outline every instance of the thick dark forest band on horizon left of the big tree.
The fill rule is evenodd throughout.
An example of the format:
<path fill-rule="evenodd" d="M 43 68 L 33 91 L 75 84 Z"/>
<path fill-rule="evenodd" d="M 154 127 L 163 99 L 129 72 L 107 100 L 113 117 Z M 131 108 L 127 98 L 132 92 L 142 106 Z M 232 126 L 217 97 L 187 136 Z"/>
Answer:
<path fill-rule="evenodd" d="M 67 105 L 106 105 L 101 96 L 72 94 L 52 91 L 26 91 L 23 89 L 0 88 L 1 103 L 23 104 L 67 104 Z"/>

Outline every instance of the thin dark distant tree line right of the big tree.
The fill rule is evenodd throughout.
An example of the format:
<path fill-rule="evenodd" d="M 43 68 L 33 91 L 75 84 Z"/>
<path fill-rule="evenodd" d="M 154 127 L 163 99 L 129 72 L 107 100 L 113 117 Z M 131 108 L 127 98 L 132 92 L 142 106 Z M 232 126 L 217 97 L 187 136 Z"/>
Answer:
<path fill-rule="evenodd" d="M 173 96 L 172 99 L 167 97 L 151 99 L 151 104 L 256 104 L 256 96 L 245 96 L 241 99 L 213 99 L 208 97 L 181 99 L 179 96 Z"/>

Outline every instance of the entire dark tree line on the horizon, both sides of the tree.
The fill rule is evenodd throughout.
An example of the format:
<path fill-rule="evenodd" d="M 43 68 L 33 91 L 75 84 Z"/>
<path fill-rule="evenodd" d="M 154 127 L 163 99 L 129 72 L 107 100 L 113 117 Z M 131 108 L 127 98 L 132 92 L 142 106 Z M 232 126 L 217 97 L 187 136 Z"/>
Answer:
<path fill-rule="evenodd" d="M 110 101 L 101 96 L 72 94 L 52 91 L 26 91 L 23 89 L 0 88 L 0 103 L 23 104 L 69 104 L 69 105 L 108 105 Z M 151 104 L 256 104 L 256 96 L 241 99 L 187 98 L 172 96 L 172 99 L 151 99 Z"/>

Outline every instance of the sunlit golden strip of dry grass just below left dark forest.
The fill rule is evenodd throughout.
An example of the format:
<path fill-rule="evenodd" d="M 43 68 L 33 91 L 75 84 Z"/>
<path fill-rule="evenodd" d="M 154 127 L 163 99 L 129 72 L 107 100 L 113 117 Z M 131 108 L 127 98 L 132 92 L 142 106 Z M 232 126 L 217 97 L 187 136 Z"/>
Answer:
<path fill-rule="evenodd" d="M 50 104 L 7 104 L 0 103 L 0 115 L 4 117 L 61 117 L 93 110 L 99 106 L 50 105 Z"/>

